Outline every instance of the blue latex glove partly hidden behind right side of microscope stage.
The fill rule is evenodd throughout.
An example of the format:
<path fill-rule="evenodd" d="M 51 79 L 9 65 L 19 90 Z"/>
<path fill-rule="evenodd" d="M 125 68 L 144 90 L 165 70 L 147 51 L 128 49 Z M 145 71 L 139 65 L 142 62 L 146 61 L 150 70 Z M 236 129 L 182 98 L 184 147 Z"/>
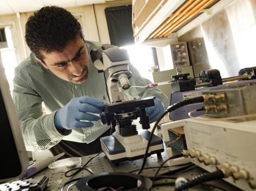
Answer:
<path fill-rule="evenodd" d="M 164 112 L 165 108 L 161 100 L 158 98 L 154 99 L 154 106 L 146 108 L 146 113 L 149 116 L 149 123 L 156 122 Z"/>

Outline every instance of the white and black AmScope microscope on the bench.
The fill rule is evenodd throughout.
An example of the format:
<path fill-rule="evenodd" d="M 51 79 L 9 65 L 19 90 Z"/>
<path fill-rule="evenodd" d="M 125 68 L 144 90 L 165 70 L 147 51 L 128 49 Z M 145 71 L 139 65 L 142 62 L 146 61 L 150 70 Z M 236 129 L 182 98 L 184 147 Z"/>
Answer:
<path fill-rule="evenodd" d="M 102 150 L 111 163 L 143 158 L 150 133 L 146 108 L 154 106 L 155 97 L 126 100 L 123 92 L 130 88 L 130 59 L 127 50 L 103 45 L 90 52 L 91 60 L 99 72 L 109 71 L 107 80 L 110 102 L 102 107 L 101 123 L 111 125 L 115 132 L 102 137 Z M 137 130 L 133 120 L 140 117 L 142 129 Z M 153 135 L 147 156 L 164 151 L 162 138 Z"/>

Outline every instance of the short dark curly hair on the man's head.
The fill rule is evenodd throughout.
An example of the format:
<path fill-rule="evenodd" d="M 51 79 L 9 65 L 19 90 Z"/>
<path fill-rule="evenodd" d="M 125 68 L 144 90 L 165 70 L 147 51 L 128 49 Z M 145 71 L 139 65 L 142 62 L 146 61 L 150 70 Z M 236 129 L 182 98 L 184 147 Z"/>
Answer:
<path fill-rule="evenodd" d="M 42 51 L 47 54 L 63 51 L 74 39 L 84 38 L 78 20 L 66 9 L 57 6 L 35 11 L 26 23 L 25 39 L 29 49 L 44 62 Z"/>

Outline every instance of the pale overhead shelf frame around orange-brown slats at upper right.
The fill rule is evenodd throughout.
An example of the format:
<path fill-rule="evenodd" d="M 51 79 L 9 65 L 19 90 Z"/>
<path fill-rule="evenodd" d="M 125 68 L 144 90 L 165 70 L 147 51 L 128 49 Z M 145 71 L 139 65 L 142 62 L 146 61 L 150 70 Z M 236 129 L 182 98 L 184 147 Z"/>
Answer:
<path fill-rule="evenodd" d="M 133 0 L 133 8 L 135 2 L 138 0 Z M 148 0 L 148 3 L 153 0 Z M 178 38 L 200 25 L 203 21 L 209 19 L 213 14 L 221 11 L 223 8 L 231 4 L 234 0 L 216 0 L 207 6 L 205 9 L 200 11 L 198 14 L 194 15 L 187 22 L 185 22 L 180 28 L 178 28 L 173 33 L 169 34 L 167 37 L 155 38 L 148 40 L 148 36 L 154 32 L 161 24 L 170 17 L 179 7 L 181 7 L 186 0 L 162 0 L 155 7 L 155 9 L 149 13 L 145 12 L 146 6 L 142 8 L 140 14 L 146 18 L 140 26 L 134 25 L 136 20 L 140 18 L 140 14 L 137 15 L 136 18 L 133 18 L 133 32 L 134 32 L 134 41 L 135 44 L 143 44 L 154 47 L 165 47 L 170 43 L 178 42 Z M 152 8 L 151 8 L 152 9 Z M 144 11 L 144 12 L 143 12 Z M 146 16 L 145 16 L 146 15 Z M 139 22 L 137 22 L 139 23 Z"/>

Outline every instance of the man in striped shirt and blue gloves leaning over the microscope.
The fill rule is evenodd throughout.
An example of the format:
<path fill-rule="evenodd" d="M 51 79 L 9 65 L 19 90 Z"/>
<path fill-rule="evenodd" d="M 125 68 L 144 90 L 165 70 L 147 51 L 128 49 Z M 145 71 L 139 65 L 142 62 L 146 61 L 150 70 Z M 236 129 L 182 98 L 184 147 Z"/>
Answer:
<path fill-rule="evenodd" d="M 25 38 L 32 53 L 15 68 L 13 101 L 26 149 L 65 152 L 65 157 L 100 152 L 100 137 L 110 134 L 110 126 L 99 122 L 107 91 L 104 74 L 97 73 L 89 53 L 103 44 L 84 40 L 77 19 L 56 6 L 43 7 L 29 17 Z M 151 83 L 134 66 L 129 69 L 131 86 Z M 158 88 L 130 88 L 124 96 L 159 98 L 147 108 L 150 123 L 164 112 L 160 99 L 168 106 Z"/>

